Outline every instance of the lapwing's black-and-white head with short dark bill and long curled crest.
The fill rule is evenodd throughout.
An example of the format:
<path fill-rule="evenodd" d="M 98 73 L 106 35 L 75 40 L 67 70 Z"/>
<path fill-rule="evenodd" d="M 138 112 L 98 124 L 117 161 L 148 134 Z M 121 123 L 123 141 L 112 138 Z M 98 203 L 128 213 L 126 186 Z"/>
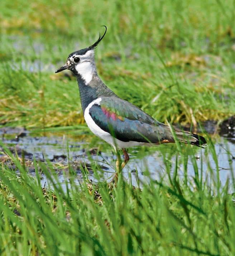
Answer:
<path fill-rule="evenodd" d="M 98 40 L 93 43 L 93 45 L 69 54 L 66 64 L 57 69 L 55 73 L 68 69 L 75 75 L 81 76 L 81 78 L 85 80 L 85 83 L 89 83 L 92 79 L 93 73 L 96 73 L 94 49 L 104 38 L 107 31 L 107 27 L 103 27 L 105 27 L 105 32 L 102 37 L 99 35 Z"/>

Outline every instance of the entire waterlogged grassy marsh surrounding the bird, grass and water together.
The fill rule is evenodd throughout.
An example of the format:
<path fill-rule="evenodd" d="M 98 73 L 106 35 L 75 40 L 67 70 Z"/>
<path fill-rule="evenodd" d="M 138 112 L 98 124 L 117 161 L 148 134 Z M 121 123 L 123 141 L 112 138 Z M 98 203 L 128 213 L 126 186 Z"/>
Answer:
<path fill-rule="evenodd" d="M 1 1 L 1 255 L 235 255 L 234 6 Z M 116 155 L 84 123 L 75 77 L 54 74 L 101 25 L 104 82 L 206 149 L 130 149 L 107 184 Z"/>

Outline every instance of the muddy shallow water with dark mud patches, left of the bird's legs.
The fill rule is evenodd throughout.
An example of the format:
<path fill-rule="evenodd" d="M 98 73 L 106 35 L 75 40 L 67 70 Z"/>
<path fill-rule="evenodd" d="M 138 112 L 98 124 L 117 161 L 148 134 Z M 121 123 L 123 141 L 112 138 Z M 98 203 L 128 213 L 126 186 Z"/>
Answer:
<path fill-rule="evenodd" d="M 81 175 L 85 166 L 92 173 L 92 165 L 89 159 L 93 155 L 101 155 L 101 152 L 96 148 L 85 150 L 82 147 L 83 142 L 75 138 L 68 141 L 62 135 L 35 135 L 18 127 L 0 128 L 0 138 L 9 152 L 17 157 L 21 163 L 24 163 L 29 172 L 35 172 L 34 160 L 36 160 L 43 163 L 49 161 L 58 174 L 67 172 L 69 165 L 78 175 Z M 14 161 L 5 152 L 3 146 L 0 146 L 0 162 L 13 170 L 17 170 Z M 107 166 L 102 164 L 97 164 L 97 166 L 103 170 L 108 169 Z"/>

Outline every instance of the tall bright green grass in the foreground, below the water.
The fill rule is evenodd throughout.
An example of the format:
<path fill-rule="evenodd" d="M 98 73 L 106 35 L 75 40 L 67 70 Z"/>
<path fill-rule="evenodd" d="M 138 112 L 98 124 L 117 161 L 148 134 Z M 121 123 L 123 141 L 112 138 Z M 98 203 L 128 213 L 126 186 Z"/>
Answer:
<path fill-rule="evenodd" d="M 213 144 L 205 152 L 214 158 L 206 167 L 207 181 L 187 149 L 178 148 L 175 167 L 171 153 L 163 154 L 166 174 L 159 180 L 142 182 L 137 175 L 141 189 L 122 176 L 109 187 L 95 162 L 97 183 L 88 182 L 87 169 L 78 183 L 70 168 L 62 188 L 50 163 L 35 162 L 31 177 L 6 149 L 19 173 L 1 167 L 1 255 L 234 255 L 230 193 L 235 181 L 222 187 L 217 180 L 219 168 L 211 168 L 217 162 Z M 190 158 L 193 177 L 187 176 Z M 41 171 L 51 183 L 47 189 L 42 189 Z M 145 173 L 150 176 L 148 169 Z"/>

